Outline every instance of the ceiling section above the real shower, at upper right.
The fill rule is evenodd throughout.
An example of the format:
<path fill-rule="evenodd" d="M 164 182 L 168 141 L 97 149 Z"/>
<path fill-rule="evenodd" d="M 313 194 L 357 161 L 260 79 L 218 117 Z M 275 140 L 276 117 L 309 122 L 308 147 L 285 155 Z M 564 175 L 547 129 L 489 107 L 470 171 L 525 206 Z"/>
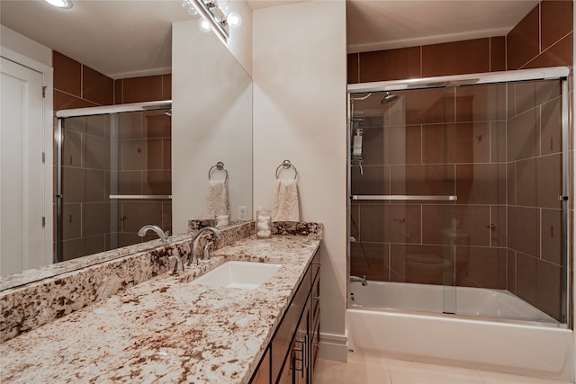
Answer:
<path fill-rule="evenodd" d="M 348 0 L 348 52 L 504 36 L 533 0 Z"/>

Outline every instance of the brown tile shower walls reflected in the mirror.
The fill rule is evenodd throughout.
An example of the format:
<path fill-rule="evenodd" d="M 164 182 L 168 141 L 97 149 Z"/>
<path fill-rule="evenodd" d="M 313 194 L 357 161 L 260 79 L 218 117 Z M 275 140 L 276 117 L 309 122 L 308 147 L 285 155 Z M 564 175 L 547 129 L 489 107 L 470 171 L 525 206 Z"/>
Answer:
<path fill-rule="evenodd" d="M 114 81 L 57 51 L 53 51 L 52 60 L 55 112 L 114 102 L 171 99 L 170 75 Z M 126 194 L 171 194 L 170 129 L 166 127 L 166 115 L 154 112 L 138 115 L 138 124 L 130 122 L 135 131 L 121 138 L 120 149 L 125 160 L 120 162 L 121 186 L 130 191 L 138 190 Z M 63 248 L 67 259 L 101 252 L 111 246 L 109 125 L 107 117 L 93 116 L 69 119 L 64 127 L 62 213 Z M 137 152 L 138 148 L 140 152 Z M 128 156 L 131 152 L 136 154 L 134 159 Z M 144 156 L 149 157 L 145 162 L 142 161 Z M 149 167 L 148 171 L 143 170 L 145 166 Z M 54 175 L 56 177 L 56 166 Z M 141 239 L 136 232 L 142 223 L 171 229 L 171 201 L 168 200 L 122 202 L 119 213 L 119 246 L 139 242 Z M 148 235 L 145 239 L 151 238 L 154 237 Z"/>

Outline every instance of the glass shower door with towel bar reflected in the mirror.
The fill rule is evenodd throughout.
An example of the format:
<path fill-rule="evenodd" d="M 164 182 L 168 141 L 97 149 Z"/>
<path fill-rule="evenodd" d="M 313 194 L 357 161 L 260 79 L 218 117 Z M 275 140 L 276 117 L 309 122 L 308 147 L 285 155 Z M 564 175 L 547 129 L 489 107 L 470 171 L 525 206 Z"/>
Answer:
<path fill-rule="evenodd" d="M 59 120 L 58 261 L 156 238 L 138 236 L 146 224 L 171 231 L 169 111 Z"/>

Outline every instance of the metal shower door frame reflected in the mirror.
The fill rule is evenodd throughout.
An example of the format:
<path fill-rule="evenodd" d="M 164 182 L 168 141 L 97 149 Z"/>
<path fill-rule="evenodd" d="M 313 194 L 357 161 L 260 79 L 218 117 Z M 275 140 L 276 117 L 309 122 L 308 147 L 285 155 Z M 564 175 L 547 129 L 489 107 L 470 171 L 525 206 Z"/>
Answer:
<path fill-rule="evenodd" d="M 62 194 L 62 145 L 64 144 L 63 121 L 72 117 L 87 117 L 95 115 L 114 115 L 125 112 L 149 112 L 166 110 L 172 108 L 172 100 L 162 100 L 158 102 L 127 103 L 118 105 L 105 105 L 100 107 L 75 108 L 60 110 L 56 112 L 56 262 L 64 261 L 62 250 L 62 204 L 64 196 Z M 117 124 L 112 124 L 112 129 L 118 129 Z M 167 196 L 166 196 L 167 197 Z M 132 198 L 145 199 L 146 196 L 132 196 Z M 111 217 L 112 220 L 112 217 Z"/>

